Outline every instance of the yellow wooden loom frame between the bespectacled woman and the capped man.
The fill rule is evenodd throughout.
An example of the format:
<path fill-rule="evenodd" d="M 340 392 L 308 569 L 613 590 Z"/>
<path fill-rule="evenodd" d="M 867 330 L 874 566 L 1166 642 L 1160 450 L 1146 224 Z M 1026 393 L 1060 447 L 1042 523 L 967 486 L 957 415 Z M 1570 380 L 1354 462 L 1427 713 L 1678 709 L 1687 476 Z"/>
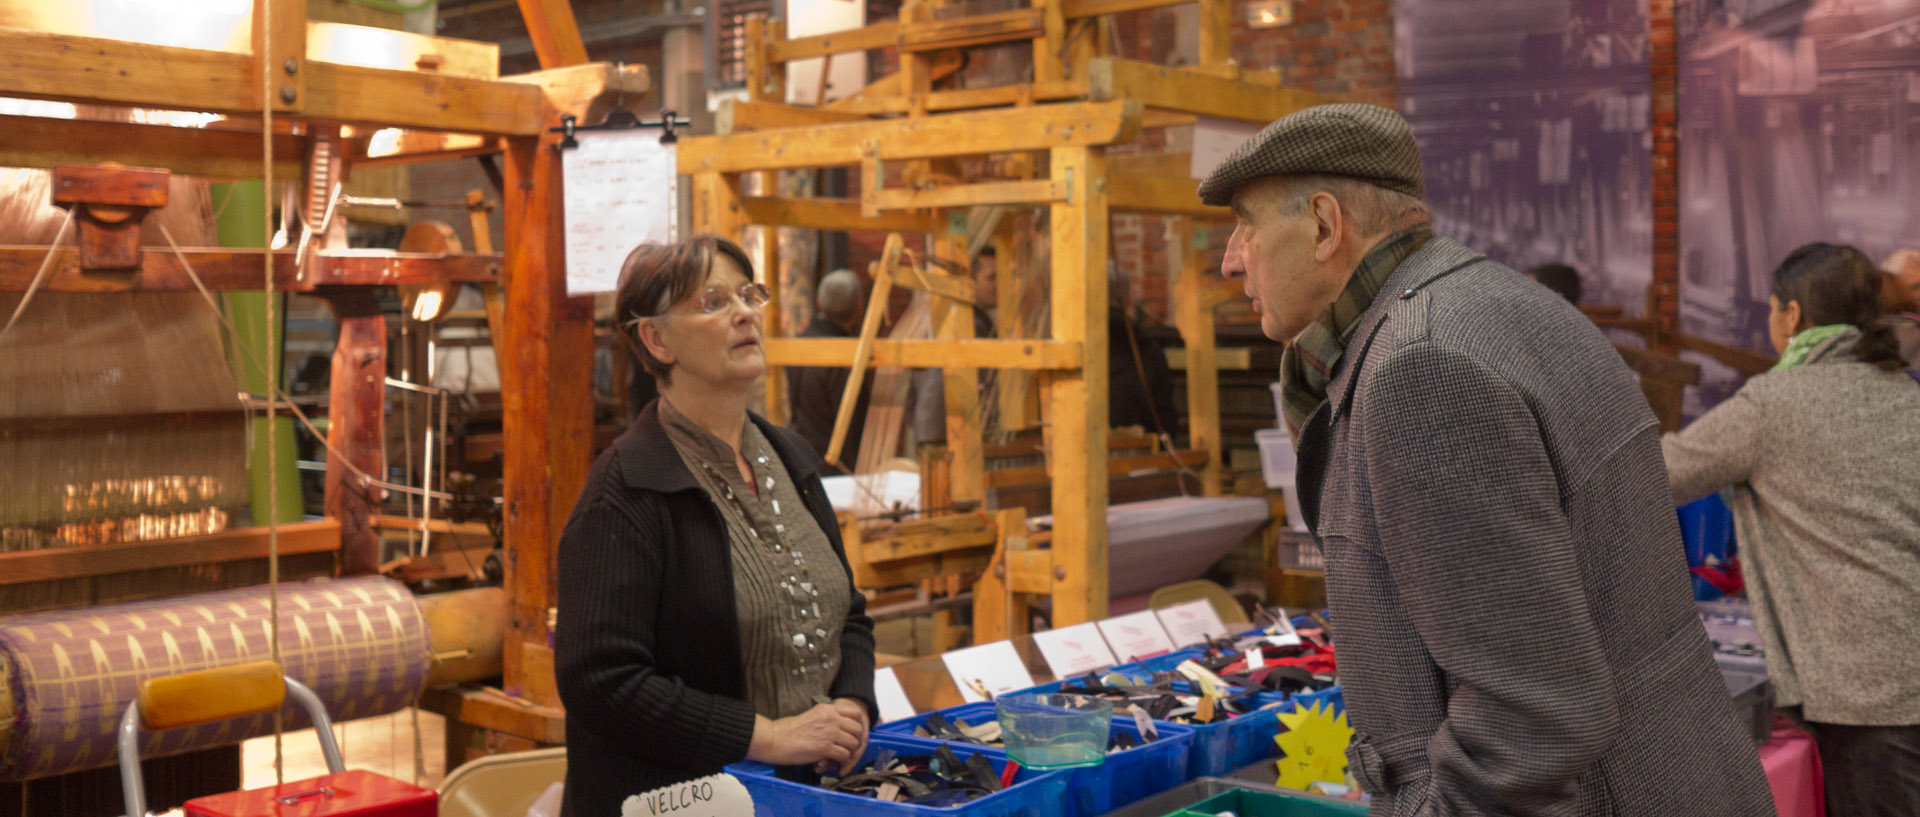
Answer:
<path fill-rule="evenodd" d="M 1029 541 L 1020 510 L 945 512 L 914 522 L 847 529 L 856 585 L 864 589 L 939 577 L 977 577 L 975 637 L 1023 629 L 1025 604 L 1050 596 L 1056 625 L 1106 616 L 1108 349 L 1106 263 L 1110 213 L 1179 217 L 1175 244 L 1204 247 L 1194 221 L 1231 219 L 1194 196 L 1185 155 L 1108 157 L 1142 127 L 1219 117 L 1267 123 L 1331 98 L 1279 86 L 1277 71 L 1242 71 L 1231 59 L 1231 0 L 1198 0 L 1200 65 L 1162 67 L 1110 56 L 1104 15 L 1181 0 L 1035 0 L 1031 8 L 966 15 L 956 4 L 908 4 L 899 21 L 806 38 L 787 38 L 781 21 L 749 17 L 747 98 L 726 102 L 718 134 L 680 142 L 680 171 L 693 180 L 693 226 L 739 240 L 756 253 L 770 290 L 778 257 L 768 234 L 749 226 L 897 230 L 927 236 L 931 257 L 966 268 L 966 219 L 975 205 L 1048 207 L 1052 276 L 1050 338 L 972 338 L 966 320 L 943 322 L 935 339 L 781 338 L 780 305 L 768 309 L 768 416 L 781 416 L 780 366 L 922 366 L 947 376 L 945 462 L 924 468 L 924 508 L 981 508 L 985 470 L 975 372 L 1027 370 L 1046 407 L 1046 464 L 1054 529 L 1050 549 Z M 935 19 L 935 12 L 962 15 Z M 960 65 L 960 50 L 1031 42 L 1033 82 L 998 88 L 937 88 Z M 854 96 L 789 105 L 787 63 L 893 48 L 899 73 Z M 995 155 L 1006 173 L 962 180 L 960 157 Z M 772 171 L 854 167 L 858 199 L 772 196 Z M 904 176 L 904 186 L 889 186 Z M 1002 253 L 1002 257 L 1006 257 Z M 1208 284 L 1208 253 L 1187 249 L 1177 282 L 1177 324 L 1188 343 L 1188 410 L 1194 453 L 1208 495 L 1221 493 L 1221 433 L 1213 368 L 1212 307 L 1231 284 Z M 998 288 L 1010 293 L 1002 263 Z M 1016 305 L 1002 297 L 998 326 Z M 1023 395 L 1002 395 L 1018 407 Z M 1008 412 L 1016 414 L 1016 412 Z M 1192 456 L 1198 455 L 1198 456 Z M 1160 455 L 1165 456 L 1165 455 Z M 1175 460 L 1183 455 L 1175 453 Z M 939 646 L 947 646 L 945 642 Z"/>

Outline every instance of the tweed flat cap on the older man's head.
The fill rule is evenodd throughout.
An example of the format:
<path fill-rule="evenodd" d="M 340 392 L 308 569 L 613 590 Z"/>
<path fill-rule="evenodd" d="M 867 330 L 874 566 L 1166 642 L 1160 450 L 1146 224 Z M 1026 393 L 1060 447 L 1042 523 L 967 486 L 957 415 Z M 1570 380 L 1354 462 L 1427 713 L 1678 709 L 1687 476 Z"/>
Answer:
<path fill-rule="evenodd" d="M 1242 142 L 1200 182 L 1200 201 L 1233 203 L 1233 192 L 1261 176 L 1352 176 L 1421 198 L 1421 150 L 1400 113 L 1344 102 L 1275 119 Z"/>

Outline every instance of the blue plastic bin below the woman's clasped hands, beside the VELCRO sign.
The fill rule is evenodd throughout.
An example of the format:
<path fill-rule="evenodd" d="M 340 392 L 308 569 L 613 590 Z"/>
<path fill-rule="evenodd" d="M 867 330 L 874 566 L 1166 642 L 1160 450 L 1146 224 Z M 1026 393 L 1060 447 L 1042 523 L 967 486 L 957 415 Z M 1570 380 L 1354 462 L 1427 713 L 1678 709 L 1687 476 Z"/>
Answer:
<path fill-rule="evenodd" d="M 933 754 L 941 744 L 906 735 L 872 733 L 866 740 L 862 763 L 891 748 L 897 754 Z M 956 750 L 960 759 L 968 754 Z M 993 763 L 993 771 L 1006 767 L 1006 756 L 993 750 L 977 752 Z M 1068 796 L 1068 773 L 1021 769 L 1014 784 L 964 805 L 937 809 L 931 805 L 883 804 L 874 798 L 829 792 L 818 786 L 774 777 L 774 767 L 756 761 L 732 763 L 728 775 L 739 779 L 753 798 L 755 817 L 1056 817 L 1060 804 Z"/>

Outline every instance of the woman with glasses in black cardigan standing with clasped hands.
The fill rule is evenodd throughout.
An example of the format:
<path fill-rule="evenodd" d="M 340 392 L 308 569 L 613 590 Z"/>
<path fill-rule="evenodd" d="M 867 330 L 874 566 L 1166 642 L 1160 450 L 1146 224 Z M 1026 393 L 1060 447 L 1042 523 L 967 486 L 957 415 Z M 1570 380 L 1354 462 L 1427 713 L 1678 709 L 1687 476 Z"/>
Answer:
<path fill-rule="evenodd" d="M 555 673 L 568 817 L 739 759 L 858 761 L 874 627 L 820 460 L 747 410 L 766 288 L 716 236 L 620 268 L 622 338 L 660 397 L 609 447 L 559 554 Z"/>

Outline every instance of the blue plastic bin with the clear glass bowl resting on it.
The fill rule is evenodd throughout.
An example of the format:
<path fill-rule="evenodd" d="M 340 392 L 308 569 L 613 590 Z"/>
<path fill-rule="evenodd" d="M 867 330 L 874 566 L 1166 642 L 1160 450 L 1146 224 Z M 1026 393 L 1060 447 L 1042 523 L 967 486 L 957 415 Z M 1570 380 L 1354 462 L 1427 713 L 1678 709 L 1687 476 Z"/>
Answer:
<path fill-rule="evenodd" d="M 993 702 L 960 704 L 939 710 L 939 713 L 948 721 L 962 719 L 966 723 L 985 723 L 995 719 L 995 706 Z M 902 717 L 899 721 L 874 727 L 874 733 L 914 735 L 914 729 L 920 729 L 925 721 L 925 713 Z M 1100 765 L 1060 769 L 1062 773 L 1071 775 L 1068 781 L 1068 798 L 1073 807 L 1068 809 L 1068 813 L 1079 817 L 1104 815 L 1112 809 L 1131 805 L 1140 798 L 1148 798 L 1187 782 L 1187 754 L 1192 748 L 1194 727 L 1185 723 L 1154 723 L 1154 729 L 1160 731 L 1158 740 L 1125 752 L 1108 754 L 1106 761 Z M 1133 735 L 1135 742 L 1140 740 L 1140 727 L 1133 723 L 1131 715 L 1114 715 L 1114 731 Z M 998 746 L 977 746 L 960 740 L 950 742 L 954 752 L 975 748 L 998 756 L 1006 754 Z"/>

